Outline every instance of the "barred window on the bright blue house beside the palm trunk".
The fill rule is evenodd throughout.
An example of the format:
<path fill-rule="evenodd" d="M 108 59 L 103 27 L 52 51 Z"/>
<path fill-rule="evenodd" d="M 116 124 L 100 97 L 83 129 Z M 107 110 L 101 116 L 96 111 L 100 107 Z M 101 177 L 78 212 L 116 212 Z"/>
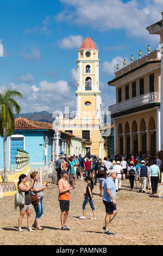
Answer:
<path fill-rule="evenodd" d="M 24 149 L 24 137 L 10 137 L 10 164 L 16 163 L 17 148 Z"/>

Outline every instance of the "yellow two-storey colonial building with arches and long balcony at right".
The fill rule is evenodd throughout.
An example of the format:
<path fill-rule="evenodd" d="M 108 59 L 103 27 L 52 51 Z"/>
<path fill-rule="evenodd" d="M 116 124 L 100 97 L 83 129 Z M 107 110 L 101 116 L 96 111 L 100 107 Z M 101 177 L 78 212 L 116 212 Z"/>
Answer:
<path fill-rule="evenodd" d="M 160 49 L 150 52 L 115 72 L 108 82 L 116 87 L 116 104 L 109 106 L 114 119 L 115 154 L 146 153 L 160 150 Z"/>

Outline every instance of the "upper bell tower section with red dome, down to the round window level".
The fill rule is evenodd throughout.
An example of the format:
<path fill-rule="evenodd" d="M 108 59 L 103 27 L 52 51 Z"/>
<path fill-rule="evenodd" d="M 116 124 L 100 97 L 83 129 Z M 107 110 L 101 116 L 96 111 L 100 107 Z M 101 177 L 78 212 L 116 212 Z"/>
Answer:
<path fill-rule="evenodd" d="M 79 118 L 95 118 L 100 113 L 98 50 L 90 37 L 84 39 L 78 50 L 77 113 Z"/>

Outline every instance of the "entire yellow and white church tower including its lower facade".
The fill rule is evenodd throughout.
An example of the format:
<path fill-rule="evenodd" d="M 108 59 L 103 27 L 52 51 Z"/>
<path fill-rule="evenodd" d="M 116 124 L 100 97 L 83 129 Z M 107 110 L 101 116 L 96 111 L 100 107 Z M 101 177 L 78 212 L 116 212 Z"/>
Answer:
<path fill-rule="evenodd" d="M 60 117 L 61 129 L 88 139 L 87 149 L 103 158 L 103 140 L 99 128 L 101 118 L 101 91 L 99 90 L 98 50 L 90 37 L 84 39 L 78 50 L 77 115 L 73 119 Z"/>

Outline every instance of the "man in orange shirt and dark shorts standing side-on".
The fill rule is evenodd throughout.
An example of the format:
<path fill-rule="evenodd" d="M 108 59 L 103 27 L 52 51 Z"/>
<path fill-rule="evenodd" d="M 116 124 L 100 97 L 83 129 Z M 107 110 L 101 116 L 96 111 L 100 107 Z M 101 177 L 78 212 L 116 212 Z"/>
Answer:
<path fill-rule="evenodd" d="M 74 185 L 71 187 L 69 186 L 67 182 L 68 173 L 66 170 L 61 170 L 61 179 L 58 181 L 58 190 L 59 190 L 59 204 L 60 204 L 60 210 L 61 210 L 61 230 L 70 230 L 67 225 L 67 216 L 69 212 L 70 207 L 70 190 L 73 190 Z"/>

